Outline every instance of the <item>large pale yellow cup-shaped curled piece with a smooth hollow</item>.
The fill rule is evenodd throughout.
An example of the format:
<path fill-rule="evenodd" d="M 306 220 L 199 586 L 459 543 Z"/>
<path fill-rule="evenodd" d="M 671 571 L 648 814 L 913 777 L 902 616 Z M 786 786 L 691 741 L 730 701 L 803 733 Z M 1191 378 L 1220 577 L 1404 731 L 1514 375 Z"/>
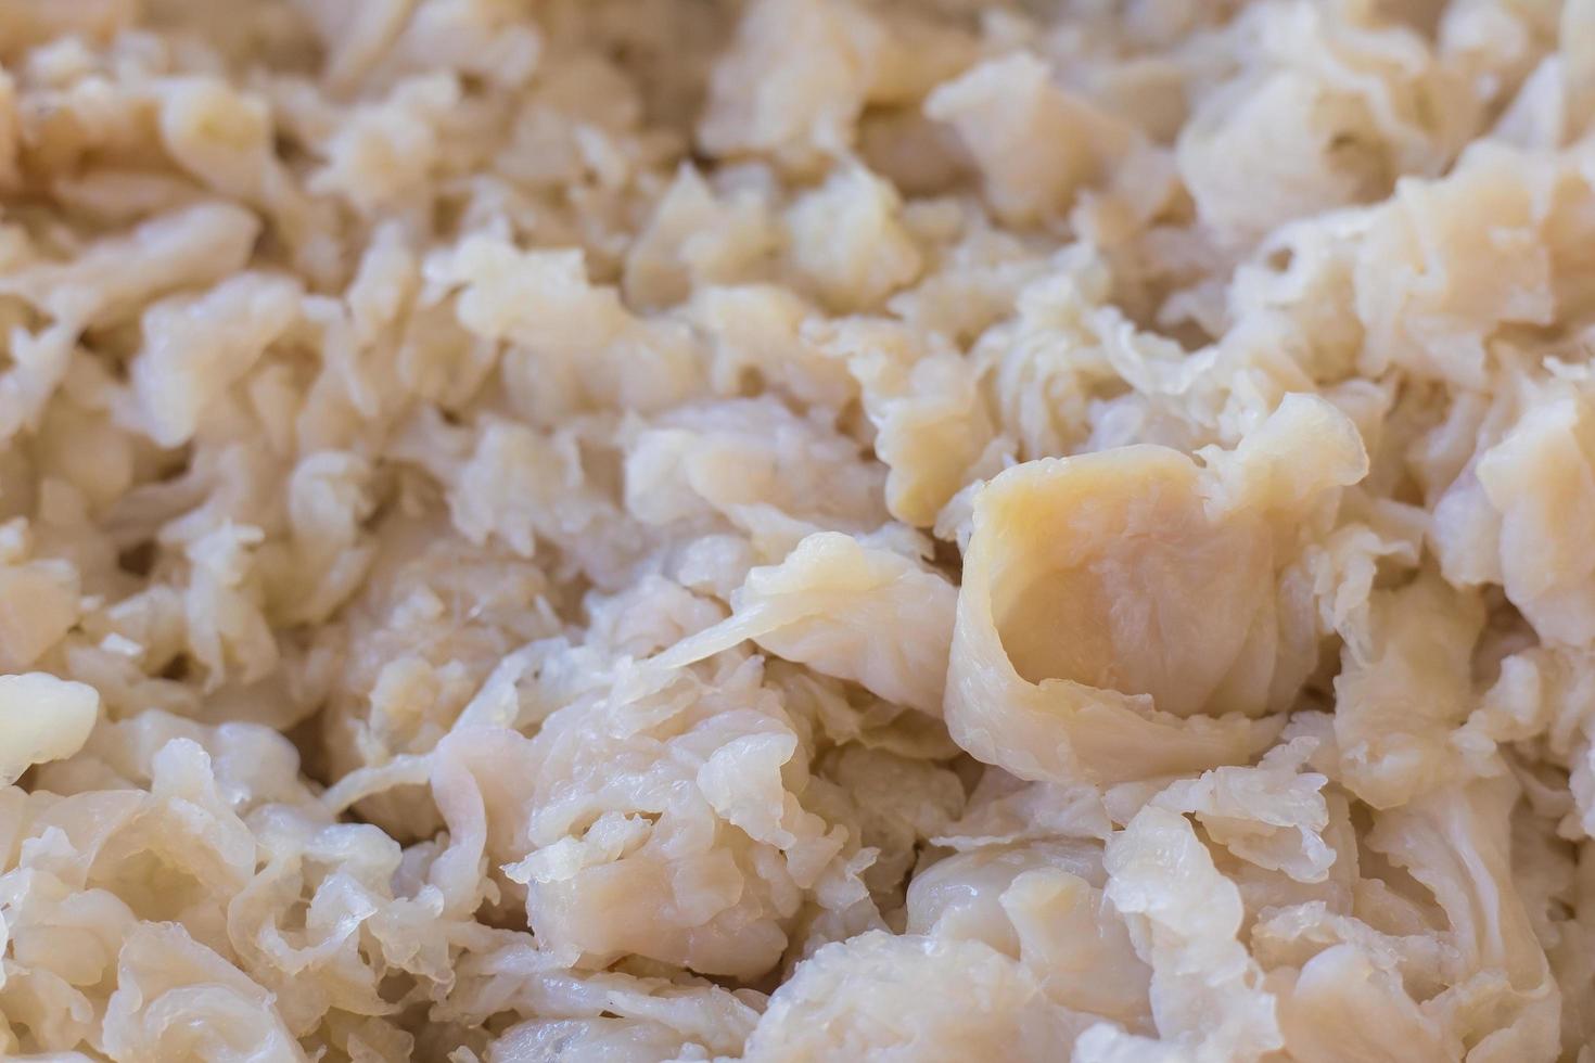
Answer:
<path fill-rule="evenodd" d="M 1247 719 L 1306 677 L 1276 539 L 1367 459 L 1343 414 L 1294 397 L 1209 462 L 1126 446 L 981 491 L 947 674 L 960 746 L 1021 778 L 1115 783 L 1241 762 L 1278 733 Z"/>

